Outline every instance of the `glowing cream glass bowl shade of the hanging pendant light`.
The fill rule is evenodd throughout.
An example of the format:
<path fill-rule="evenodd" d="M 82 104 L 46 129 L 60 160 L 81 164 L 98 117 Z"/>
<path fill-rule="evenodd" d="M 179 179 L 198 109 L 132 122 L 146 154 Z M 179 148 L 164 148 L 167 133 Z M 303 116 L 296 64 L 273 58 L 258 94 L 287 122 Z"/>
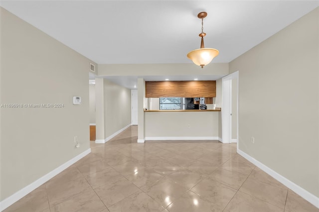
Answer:
<path fill-rule="evenodd" d="M 190 51 L 187 54 L 187 57 L 193 61 L 197 66 L 201 66 L 202 68 L 209 64 L 214 57 L 219 54 L 217 49 L 211 48 L 201 48 Z"/>

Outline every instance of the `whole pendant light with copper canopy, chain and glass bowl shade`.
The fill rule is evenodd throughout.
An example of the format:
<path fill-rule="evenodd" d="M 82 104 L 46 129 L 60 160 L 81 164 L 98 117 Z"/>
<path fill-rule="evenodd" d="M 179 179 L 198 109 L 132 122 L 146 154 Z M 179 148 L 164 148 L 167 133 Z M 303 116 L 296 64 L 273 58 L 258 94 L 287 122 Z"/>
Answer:
<path fill-rule="evenodd" d="M 219 54 L 219 51 L 217 49 L 204 47 L 204 36 L 206 35 L 206 33 L 203 32 L 203 19 L 206 16 L 207 12 L 199 12 L 197 15 L 197 17 L 201 19 L 201 33 L 199 34 L 199 37 L 201 37 L 200 49 L 192 50 L 187 54 L 187 57 L 201 68 L 209 64 L 214 59 L 214 57 Z"/>

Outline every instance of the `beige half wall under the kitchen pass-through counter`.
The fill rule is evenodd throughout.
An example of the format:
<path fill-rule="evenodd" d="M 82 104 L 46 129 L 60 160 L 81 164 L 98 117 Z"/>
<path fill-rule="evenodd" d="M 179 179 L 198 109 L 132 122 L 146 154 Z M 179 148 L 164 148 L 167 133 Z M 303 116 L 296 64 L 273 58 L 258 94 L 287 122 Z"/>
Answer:
<path fill-rule="evenodd" d="M 217 111 L 144 113 L 145 137 L 218 137 Z"/>

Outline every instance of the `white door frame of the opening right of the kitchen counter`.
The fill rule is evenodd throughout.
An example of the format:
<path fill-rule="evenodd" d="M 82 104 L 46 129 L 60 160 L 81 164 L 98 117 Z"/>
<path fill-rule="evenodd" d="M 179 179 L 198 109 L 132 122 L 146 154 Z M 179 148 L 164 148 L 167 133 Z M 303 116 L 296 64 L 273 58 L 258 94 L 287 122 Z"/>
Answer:
<path fill-rule="evenodd" d="M 232 127 L 232 95 L 237 95 L 237 149 L 238 149 L 238 71 L 222 78 L 222 106 L 221 106 L 221 124 L 222 124 L 222 142 L 231 143 Z M 232 94 L 232 80 L 237 80 L 237 94 Z"/>

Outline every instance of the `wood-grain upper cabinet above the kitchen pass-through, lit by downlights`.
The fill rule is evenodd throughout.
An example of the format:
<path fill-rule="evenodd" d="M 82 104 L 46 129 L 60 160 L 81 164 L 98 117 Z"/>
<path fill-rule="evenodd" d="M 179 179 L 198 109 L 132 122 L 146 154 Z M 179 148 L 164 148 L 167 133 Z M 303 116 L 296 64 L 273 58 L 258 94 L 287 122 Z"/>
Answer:
<path fill-rule="evenodd" d="M 216 97 L 216 81 L 147 81 L 146 98 Z"/>

